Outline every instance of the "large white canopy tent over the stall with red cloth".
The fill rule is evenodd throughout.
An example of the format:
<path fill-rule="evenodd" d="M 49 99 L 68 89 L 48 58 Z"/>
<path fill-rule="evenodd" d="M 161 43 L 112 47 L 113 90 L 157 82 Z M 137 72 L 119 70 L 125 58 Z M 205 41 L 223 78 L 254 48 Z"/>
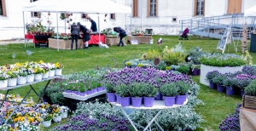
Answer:
<path fill-rule="evenodd" d="M 119 3 L 113 3 L 110 0 L 40 0 L 28 3 L 23 6 L 23 25 L 25 34 L 24 12 L 53 12 L 56 13 L 57 34 L 58 31 L 58 14 L 131 14 L 131 7 Z M 99 19 L 98 19 L 99 22 Z M 98 28 L 100 28 L 98 26 Z M 100 31 L 100 30 L 99 30 Z M 58 51 L 59 51 L 59 41 Z"/>

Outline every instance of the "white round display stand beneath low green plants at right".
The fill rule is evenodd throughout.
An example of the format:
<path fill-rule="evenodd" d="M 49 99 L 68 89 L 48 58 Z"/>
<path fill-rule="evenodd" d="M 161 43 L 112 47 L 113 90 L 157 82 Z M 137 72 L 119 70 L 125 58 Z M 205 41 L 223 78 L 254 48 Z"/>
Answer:
<path fill-rule="evenodd" d="M 217 67 L 217 66 L 209 66 L 209 65 L 202 65 L 201 64 L 201 75 L 200 75 L 200 83 L 209 86 L 209 83 L 207 83 L 206 78 L 207 78 L 207 73 L 209 71 L 218 71 L 222 74 L 224 73 L 235 73 L 236 71 L 241 71 L 243 66 L 235 66 L 235 67 Z"/>

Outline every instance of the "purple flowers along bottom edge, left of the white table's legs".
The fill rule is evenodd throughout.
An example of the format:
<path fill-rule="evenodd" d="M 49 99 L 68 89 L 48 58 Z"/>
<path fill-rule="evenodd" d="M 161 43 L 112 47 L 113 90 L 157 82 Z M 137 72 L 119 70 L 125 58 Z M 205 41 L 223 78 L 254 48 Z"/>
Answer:
<path fill-rule="evenodd" d="M 92 118 L 90 115 L 80 114 L 77 117 L 72 117 L 71 120 L 61 126 L 53 128 L 55 131 L 130 131 L 131 124 L 128 120 L 117 116 L 108 116 L 102 114 L 97 118 Z"/>

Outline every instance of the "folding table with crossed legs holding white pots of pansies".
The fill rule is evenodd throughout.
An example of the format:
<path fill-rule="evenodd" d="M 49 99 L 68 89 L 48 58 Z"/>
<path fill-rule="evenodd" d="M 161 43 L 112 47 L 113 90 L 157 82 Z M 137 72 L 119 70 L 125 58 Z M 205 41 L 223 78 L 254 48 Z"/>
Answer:
<path fill-rule="evenodd" d="M 0 105 L 0 108 L 2 107 L 4 101 L 6 101 L 6 102 L 11 102 L 11 103 L 18 103 L 18 105 L 15 106 L 14 111 L 12 111 L 12 113 L 9 115 L 9 117 L 8 117 L 6 120 L 4 120 L 4 118 L 2 117 L 2 115 L 0 115 L 0 117 L 1 117 L 2 120 L 3 120 L 3 122 L 8 122 L 9 118 L 12 117 L 12 115 L 13 115 L 13 114 L 15 113 L 15 111 L 20 107 L 20 105 L 21 105 L 21 104 L 26 104 L 26 103 L 24 102 L 24 100 L 26 99 L 27 95 L 30 94 L 30 92 L 31 92 L 32 90 L 33 90 L 33 92 L 34 92 L 35 94 L 38 95 L 37 91 L 32 87 L 33 84 L 42 83 L 42 82 L 48 81 L 48 82 L 46 83 L 45 87 L 44 87 L 44 91 L 45 91 L 45 89 L 48 88 L 48 85 L 49 85 L 50 80 L 55 79 L 55 78 L 58 78 L 58 77 L 62 77 L 62 76 L 60 75 L 60 76 L 55 76 L 55 77 L 49 77 L 49 78 L 47 78 L 47 79 L 42 79 L 41 81 L 32 82 L 32 83 L 25 83 L 25 84 L 17 85 L 17 86 L 14 86 L 14 87 L 0 88 L 0 91 L 1 91 L 1 90 L 2 90 L 2 91 L 7 90 L 7 92 L 6 92 L 6 94 L 5 94 L 4 98 L 3 98 L 3 100 L 0 100 L 0 101 L 2 101 L 2 103 L 1 103 L 1 105 Z M 25 87 L 25 86 L 30 86 L 30 90 L 26 93 L 25 97 L 24 97 L 20 102 L 6 100 L 6 99 L 7 99 L 7 95 L 9 94 L 9 91 L 10 91 L 10 90 L 15 89 L 15 88 Z M 44 102 L 44 100 L 42 99 L 42 96 L 39 96 L 39 95 L 38 95 L 38 98 L 39 98 L 39 100 L 41 100 L 42 102 Z M 38 100 L 38 101 L 39 101 L 39 100 Z"/>

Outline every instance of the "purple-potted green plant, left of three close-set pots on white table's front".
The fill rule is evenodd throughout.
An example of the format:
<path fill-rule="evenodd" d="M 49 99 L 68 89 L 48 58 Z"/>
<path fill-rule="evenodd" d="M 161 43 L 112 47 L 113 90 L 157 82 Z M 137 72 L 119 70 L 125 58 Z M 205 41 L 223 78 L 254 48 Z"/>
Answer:
<path fill-rule="evenodd" d="M 116 85 L 115 92 L 119 94 L 120 104 L 122 106 L 129 106 L 130 105 L 130 93 L 129 93 L 129 86 L 125 83 L 120 83 Z"/>

